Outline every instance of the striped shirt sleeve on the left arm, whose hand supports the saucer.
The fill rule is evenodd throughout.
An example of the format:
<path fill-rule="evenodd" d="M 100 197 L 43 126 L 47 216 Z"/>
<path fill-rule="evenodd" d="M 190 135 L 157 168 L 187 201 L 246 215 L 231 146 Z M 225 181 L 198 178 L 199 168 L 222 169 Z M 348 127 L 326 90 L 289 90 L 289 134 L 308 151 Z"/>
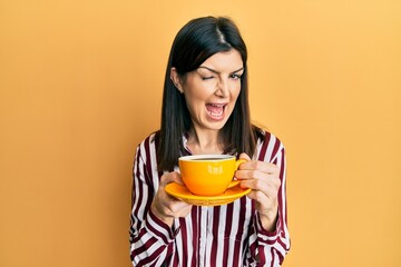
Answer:
<path fill-rule="evenodd" d="M 130 258 L 133 266 L 162 266 L 168 263 L 178 230 L 172 229 L 151 211 L 155 195 L 154 179 L 147 160 L 151 154 L 149 146 L 138 146 L 133 168 L 133 199 L 130 215 Z M 150 162 L 151 164 L 151 162 Z M 158 177 L 157 177 L 158 180 Z"/>

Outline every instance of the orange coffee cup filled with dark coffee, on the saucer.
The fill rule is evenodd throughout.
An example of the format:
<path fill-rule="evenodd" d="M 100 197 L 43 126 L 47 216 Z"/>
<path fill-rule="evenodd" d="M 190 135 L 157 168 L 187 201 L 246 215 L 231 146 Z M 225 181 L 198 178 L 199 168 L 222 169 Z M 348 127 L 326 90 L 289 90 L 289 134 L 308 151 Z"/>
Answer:
<path fill-rule="evenodd" d="M 218 196 L 239 184 L 234 172 L 245 159 L 229 155 L 194 155 L 178 158 L 182 179 L 188 190 L 197 196 Z"/>

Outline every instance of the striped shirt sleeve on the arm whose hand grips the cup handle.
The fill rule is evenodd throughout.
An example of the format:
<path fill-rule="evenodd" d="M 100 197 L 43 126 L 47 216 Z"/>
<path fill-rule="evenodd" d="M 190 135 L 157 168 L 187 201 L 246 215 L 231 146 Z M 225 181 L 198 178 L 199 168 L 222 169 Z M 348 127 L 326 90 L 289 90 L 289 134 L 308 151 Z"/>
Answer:
<path fill-rule="evenodd" d="M 271 159 L 266 158 L 280 167 L 281 187 L 278 189 L 278 217 L 274 231 L 266 231 L 262 227 L 260 216 L 255 212 L 253 225 L 250 231 L 250 250 L 247 260 L 250 266 L 281 266 L 290 250 L 290 234 L 287 229 L 286 216 L 286 159 L 284 146 L 275 137 L 271 137 L 276 142 L 277 152 Z M 278 145 L 277 145 L 278 144 Z M 266 145 L 267 146 L 267 145 Z M 274 149 L 273 149 L 274 150 Z"/>

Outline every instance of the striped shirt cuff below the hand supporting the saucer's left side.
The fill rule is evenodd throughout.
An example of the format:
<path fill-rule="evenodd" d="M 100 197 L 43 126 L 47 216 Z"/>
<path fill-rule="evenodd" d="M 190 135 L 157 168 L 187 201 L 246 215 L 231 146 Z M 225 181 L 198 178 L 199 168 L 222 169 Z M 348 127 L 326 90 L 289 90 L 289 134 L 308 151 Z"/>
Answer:
<path fill-rule="evenodd" d="M 157 218 L 157 216 L 151 212 L 151 209 L 149 209 L 146 216 L 145 227 L 148 233 L 150 233 L 165 245 L 172 243 L 179 231 L 179 228 L 172 229 L 167 224 Z"/>

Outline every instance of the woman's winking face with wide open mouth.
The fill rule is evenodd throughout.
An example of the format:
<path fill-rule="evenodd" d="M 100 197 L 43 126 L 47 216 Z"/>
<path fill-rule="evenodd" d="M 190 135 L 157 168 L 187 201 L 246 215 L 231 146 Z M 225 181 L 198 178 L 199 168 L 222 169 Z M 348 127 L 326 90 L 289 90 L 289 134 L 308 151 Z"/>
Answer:
<path fill-rule="evenodd" d="M 188 72 L 178 86 L 195 130 L 219 130 L 234 110 L 244 65 L 237 50 L 218 52 Z"/>

